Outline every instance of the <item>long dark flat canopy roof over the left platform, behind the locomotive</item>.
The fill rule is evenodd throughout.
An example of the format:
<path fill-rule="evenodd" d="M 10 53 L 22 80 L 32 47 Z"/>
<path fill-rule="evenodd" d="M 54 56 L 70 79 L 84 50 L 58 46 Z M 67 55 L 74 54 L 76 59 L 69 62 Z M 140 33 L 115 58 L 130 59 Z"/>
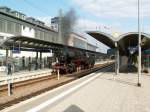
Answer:
<path fill-rule="evenodd" d="M 81 49 L 81 48 L 76 48 L 72 46 L 67 46 L 59 43 L 54 43 L 54 42 L 49 42 L 45 40 L 40 40 L 36 38 L 31 38 L 27 36 L 13 36 L 9 37 L 6 39 L 0 47 L 2 49 L 14 49 L 14 48 L 19 48 L 22 51 L 39 51 L 39 52 L 51 52 L 53 50 L 54 52 L 56 50 L 60 49 L 76 49 L 80 51 L 85 51 L 85 52 L 91 52 L 91 53 L 96 53 L 100 55 L 106 55 L 104 53 L 96 52 L 96 51 L 90 51 L 86 49 Z"/>

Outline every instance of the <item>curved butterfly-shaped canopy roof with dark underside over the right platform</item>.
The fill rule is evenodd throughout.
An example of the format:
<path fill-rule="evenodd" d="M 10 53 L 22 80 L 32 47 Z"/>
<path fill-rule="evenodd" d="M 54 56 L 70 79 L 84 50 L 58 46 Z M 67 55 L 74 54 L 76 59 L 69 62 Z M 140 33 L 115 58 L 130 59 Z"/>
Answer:
<path fill-rule="evenodd" d="M 130 48 L 138 50 L 138 32 L 125 33 L 117 38 L 99 31 L 88 31 L 87 33 L 112 49 L 117 43 L 121 55 L 128 55 Z M 142 51 L 150 48 L 149 34 L 141 33 L 141 41 Z"/>

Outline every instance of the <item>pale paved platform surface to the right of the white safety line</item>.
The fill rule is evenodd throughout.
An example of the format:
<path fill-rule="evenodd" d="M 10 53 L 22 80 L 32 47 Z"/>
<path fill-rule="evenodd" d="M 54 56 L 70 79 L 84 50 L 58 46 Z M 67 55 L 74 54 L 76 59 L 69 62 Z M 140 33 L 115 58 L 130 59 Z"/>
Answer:
<path fill-rule="evenodd" d="M 42 112 L 150 112 L 150 75 L 105 73 Z"/>

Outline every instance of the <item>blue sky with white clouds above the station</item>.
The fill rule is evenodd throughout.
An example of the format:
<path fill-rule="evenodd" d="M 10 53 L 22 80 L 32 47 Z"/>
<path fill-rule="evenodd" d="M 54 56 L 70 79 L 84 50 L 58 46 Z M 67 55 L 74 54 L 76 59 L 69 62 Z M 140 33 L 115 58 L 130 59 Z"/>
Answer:
<path fill-rule="evenodd" d="M 137 31 L 138 0 L 0 0 L 0 5 L 48 24 L 50 18 L 58 16 L 59 9 L 67 12 L 74 8 L 79 30 L 98 30 L 112 35 Z M 149 7 L 150 0 L 140 0 L 141 31 L 150 34 Z"/>

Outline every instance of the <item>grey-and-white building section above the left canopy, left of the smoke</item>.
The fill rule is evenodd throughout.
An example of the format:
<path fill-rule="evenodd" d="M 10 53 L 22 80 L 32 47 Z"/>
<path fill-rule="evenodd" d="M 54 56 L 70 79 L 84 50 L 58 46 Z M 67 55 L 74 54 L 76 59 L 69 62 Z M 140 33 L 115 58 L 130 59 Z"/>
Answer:
<path fill-rule="evenodd" d="M 27 17 L 18 11 L 0 7 L 0 40 L 11 36 L 27 36 L 57 43 L 58 32 L 45 26 L 44 22 Z"/>

